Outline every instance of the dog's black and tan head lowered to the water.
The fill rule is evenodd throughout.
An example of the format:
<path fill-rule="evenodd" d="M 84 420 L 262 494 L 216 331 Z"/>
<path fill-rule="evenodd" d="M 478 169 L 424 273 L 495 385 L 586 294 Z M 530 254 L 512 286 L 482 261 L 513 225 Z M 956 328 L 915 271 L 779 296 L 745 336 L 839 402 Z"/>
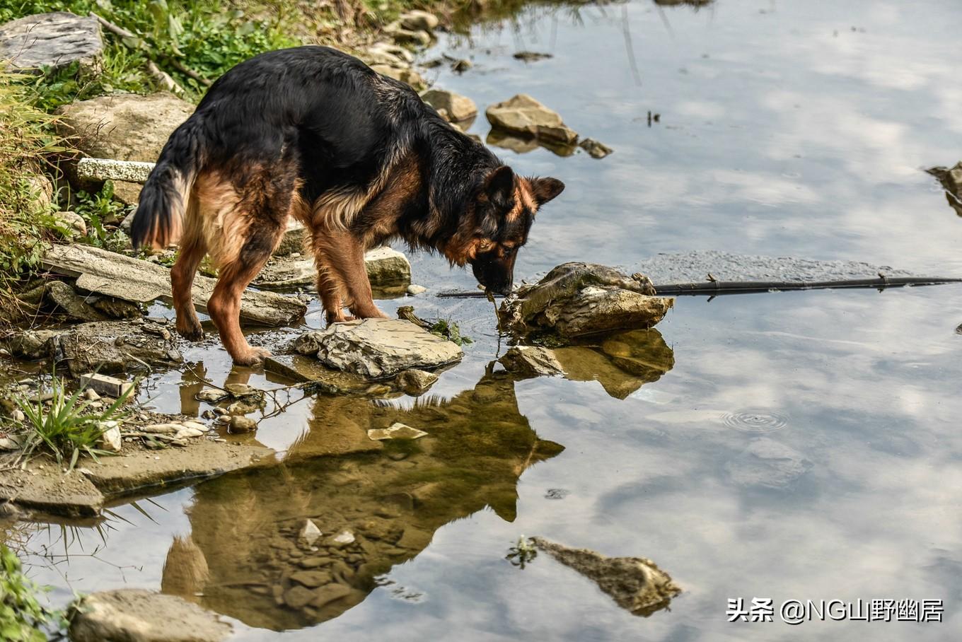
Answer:
<path fill-rule="evenodd" d="M 528 240 L 535 213 L 560 194 L 565 184 L 552 178 L 517 176 L 502 165 L 485 178 L 448 259 L 470 263 L 474 278 L 486 289 L 508 294 L 514 283 L 515 259 Z"/>

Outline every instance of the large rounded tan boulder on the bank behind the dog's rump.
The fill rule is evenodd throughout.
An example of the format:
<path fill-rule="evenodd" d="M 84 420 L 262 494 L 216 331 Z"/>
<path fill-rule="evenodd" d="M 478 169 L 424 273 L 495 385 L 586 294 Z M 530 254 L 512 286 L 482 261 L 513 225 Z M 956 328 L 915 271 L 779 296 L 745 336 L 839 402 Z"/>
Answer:
<path fill-rule="evenodd" d="M 161 155 L 167 137 L 194 106 L 172 93 L 112 94 L 61 108 L 58 132 L 98 159 L 149 160 Z"/>

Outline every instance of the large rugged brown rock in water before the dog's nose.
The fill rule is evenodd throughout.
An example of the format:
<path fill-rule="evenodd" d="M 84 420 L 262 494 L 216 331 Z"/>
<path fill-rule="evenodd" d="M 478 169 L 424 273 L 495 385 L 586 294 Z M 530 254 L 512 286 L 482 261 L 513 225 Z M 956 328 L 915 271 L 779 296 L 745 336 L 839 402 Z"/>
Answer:
<path fill-rule="evenodd" d="M 595 263 L 563 263 L 537 284 L 523 285 L 501 304 L 502 323 L 518 334 L 554 333 L 572 338 L 631 328 L 650 328 L 674 304 L 653 296 L 641 274 L 626 277 Z"/>

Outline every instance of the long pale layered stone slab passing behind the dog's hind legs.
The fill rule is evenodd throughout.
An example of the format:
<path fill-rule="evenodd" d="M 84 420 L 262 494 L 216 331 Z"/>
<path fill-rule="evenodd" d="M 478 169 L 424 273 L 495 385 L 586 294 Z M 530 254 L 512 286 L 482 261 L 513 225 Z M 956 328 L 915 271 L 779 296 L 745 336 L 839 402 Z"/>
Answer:
<path fill-rule="evenodd" d="M 54 245 L 42 259 L 48 270 L 77 278 L 77 287 L 124 301 L 146 303 L 171 301 L 170 270 L 163 265 L 108 252 L 89 245 Z M 215 279 L 197 275 L 193 280 L 193 303 L 207 309 Z M 307 311 L 292 297 L 275 292 L 244 290 L 241 319 L 265 326 L 286 326 Z"/>

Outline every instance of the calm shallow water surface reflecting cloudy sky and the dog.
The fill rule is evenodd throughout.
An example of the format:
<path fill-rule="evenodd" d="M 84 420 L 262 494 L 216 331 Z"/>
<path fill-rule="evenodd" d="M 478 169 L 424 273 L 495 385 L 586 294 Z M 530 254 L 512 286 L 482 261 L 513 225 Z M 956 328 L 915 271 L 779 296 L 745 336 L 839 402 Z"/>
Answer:
<path fill-rule="evenodd" d="M 949 0 L 637 0 L 529 8 L 425 58 L 470 57 L 463 75 L 433 72 L 439 84 L 482 108 L 530 93 L 616 150 L 504 151 L 568 184 L 519 276 L 689 250 L 958 275 L 962 220 L 920 168 L 959 158 L 960 27 Z M 519 50 L 553 58 L 519 62 Z M 650 127 L 647 111 L 661 114 Z M 472 131 L 487 134 L 483 116 Z M 433 292 L 473 287 L 442 259 L 413 268 Z M 503 350 L 490 304 L 413 303 L 477 339 L 430 403 L 304 400 L 236 437 L 281 451 L 275 467 L 115 506 L 99 529 L 21 525 L 34 577 L 55 601 L 202 592 L 243 640 L 942 640 L 962 626 L 962 287 L 681 298 L 660 337 L 572 355 L 587 381 L 490 373 Z M 630 374 L 605 357 L 625 350 L 657 367 Z M 217 349 L 187 358 L 215 382 L 265 382 Z M 157 376 L 144 397 L 196 411 L 189 382 Z M 358 452 L 364 430 L 395 420 L 431 436 L 414 452 Z M 325 532 L 380 520 L 410 530 L 411 546 L 367 551 L 346 610 L 280 607 L 263 592 L 296 570 L 285 542 L 306 517 Z M 513 566 L 521 534 L 649 557 L 684 592 L 631 615 L 548 556 Z M 939 599 L 945 615 L 729 624 L 727 599 L 753 597 Z"/>

